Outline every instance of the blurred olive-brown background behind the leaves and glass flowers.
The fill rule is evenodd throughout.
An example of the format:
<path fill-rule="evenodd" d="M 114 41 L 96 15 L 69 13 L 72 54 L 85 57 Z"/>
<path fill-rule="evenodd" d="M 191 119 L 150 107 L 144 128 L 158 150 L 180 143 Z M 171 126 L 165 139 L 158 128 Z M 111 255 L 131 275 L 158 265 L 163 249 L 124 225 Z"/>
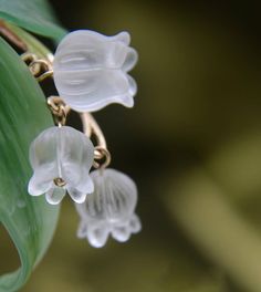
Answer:
<path fill-rule="evenodd" d="M 143 231 L 93 249 L 76 239 L 77 215 L 65 200 L 22 291 L 260 292 L 258 1 L 51 3 L 69 30 L 127 30 L 139 53 L 135 107 L 111 105 L 95 117 L 112 167 L 138 185 Z"/>

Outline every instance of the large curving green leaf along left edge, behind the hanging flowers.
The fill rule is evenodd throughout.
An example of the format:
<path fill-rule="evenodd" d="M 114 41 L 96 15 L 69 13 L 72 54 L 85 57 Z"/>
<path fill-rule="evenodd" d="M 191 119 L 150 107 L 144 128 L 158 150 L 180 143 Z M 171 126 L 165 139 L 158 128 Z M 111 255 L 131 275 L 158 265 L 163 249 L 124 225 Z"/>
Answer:
<path fill-rule="evenodd" d="M 17 53 L 0 39 L 0 222 L 8 230 L 21 268 L 0 277 L 0 292 L 18 291 L 44 254 L 59 208 L 28 195 L 32 175 L 28 150 L 52 125 L 43 93 Z"/>

